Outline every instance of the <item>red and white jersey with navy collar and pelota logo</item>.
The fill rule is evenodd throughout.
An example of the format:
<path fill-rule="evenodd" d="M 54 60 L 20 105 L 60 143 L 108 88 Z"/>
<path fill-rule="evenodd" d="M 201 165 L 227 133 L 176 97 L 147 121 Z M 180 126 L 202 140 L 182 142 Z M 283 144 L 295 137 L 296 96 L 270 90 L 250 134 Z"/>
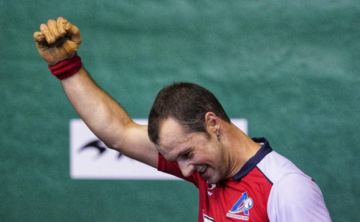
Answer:
<path fill-rule="evenodd" d="M 199 173 L 184 177 L 177 162 L 159 155 L 158 170 L 192 182 L 199 189 L 198 222 L 329 222 L 323 195 L 312 179 L 273 149 L 260 150 L 233 177 L 208 184 Z"/>

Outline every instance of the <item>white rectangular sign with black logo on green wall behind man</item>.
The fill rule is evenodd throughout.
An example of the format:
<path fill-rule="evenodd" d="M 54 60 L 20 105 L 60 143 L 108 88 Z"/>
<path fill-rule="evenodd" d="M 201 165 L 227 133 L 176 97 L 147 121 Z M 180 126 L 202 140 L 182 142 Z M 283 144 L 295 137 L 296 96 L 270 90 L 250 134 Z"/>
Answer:
<path fill-rule="evenodd" d="M 147 119 L 134 119 L 147 125 Z M 247 134 L 246 119 L 231 119 Z M 73 179 L 180 180 L 109 149 L 81 119 L 70 120 L 70 176 Z"/>

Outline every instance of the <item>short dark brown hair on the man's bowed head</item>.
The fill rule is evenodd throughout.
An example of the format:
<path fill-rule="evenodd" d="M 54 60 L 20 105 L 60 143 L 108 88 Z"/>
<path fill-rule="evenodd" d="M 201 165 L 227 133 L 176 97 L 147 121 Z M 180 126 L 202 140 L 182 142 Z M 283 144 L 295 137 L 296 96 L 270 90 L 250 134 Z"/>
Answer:
<path fill-rule="evenodd" d="M 204 87 L 188 82 L 166 86 L 156 96 L 149 113 L 149 139 L 154 144 L 158 144 L 160 124 L 168 117 L 175 119 L 183 127 L 185 133 L 207 134 L 205 125 L 207 112 L 213 112 L 223 121 L 230 123 L 222 105 Z"/>

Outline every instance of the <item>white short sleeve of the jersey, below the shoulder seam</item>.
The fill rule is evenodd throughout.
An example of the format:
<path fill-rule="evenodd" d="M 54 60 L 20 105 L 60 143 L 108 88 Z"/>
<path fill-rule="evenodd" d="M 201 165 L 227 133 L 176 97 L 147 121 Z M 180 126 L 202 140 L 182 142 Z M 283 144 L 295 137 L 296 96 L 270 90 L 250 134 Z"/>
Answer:
<path fill-rule="evenodd" d="M 331 222 L 320 188 L 300 173 L 285 174 L 271 188 L 270 222 Z"/>

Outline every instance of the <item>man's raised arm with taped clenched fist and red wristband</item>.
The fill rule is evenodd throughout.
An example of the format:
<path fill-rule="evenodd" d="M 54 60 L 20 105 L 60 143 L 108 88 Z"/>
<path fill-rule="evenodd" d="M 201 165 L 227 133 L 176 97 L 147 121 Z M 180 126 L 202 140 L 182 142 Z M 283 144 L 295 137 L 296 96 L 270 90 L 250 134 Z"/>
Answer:
<path fill-rule="evenodd" d="M 77 56 L 76 51 L 81 43 L 78 28 L 59 17 L 57 21 L 49 20 L 48 24 L 41 24 L 40 32 L 34 33 L 34 40 L 40 56 L 61 80 L 71 104 L 90 130 L 109 148 L 157 167 L 158 152 L 148 138 L 147 126 L 132 121 L 125 110 L 95 84 L 81 67 L 81 62 L 81 68 L 75 69 L 76 73 L 67 77 L 68 72 L 64 69 L 79 64 L 71 62 Z M 54 67 L 61 69 L 57 68 L 54 72 Z"/>

